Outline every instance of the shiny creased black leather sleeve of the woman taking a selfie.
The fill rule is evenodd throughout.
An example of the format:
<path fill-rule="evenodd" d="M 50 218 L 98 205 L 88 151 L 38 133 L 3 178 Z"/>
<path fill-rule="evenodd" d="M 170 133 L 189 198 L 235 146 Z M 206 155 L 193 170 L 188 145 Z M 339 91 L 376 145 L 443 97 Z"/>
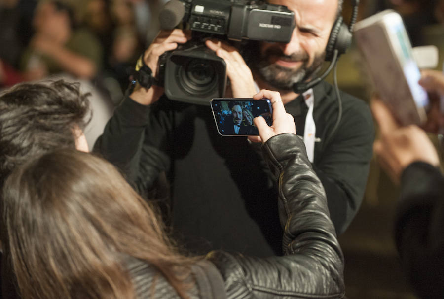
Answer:
<path fill-rule="evenodd" d="M 282 146 L 285 144 L 285 146 Z M 302 140 L 280 134 L 263 146 L 279 188 L 283 257 L 265 259 L 212 252 L 228 298 L 341 298 L 343 256 L 324 188 Z M 241 229 L 241 228 L 240 228 Z"/>

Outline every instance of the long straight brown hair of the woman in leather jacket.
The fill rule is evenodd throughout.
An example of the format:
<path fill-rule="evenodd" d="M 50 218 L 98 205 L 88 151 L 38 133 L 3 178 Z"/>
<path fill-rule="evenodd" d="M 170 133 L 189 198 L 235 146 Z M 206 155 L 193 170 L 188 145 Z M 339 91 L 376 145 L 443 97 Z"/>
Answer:
<path fill-rule="evenodd" d="M 59 150 L 18 167 L 3 188 L 3 221 L 22 298 L 135 298 L 123 255 L 187 297 L 195 259 L 176 252 L 153 209 L 101 158 Z"/>

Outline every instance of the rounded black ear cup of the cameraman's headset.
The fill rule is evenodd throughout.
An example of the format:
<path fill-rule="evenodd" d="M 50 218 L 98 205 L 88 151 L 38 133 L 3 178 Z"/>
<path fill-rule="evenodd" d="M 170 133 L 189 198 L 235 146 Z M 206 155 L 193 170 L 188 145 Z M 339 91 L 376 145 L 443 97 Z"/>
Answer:
<path fill-rule="evenodd" d="M 327 42 L 325 60 L 332 61 L 334 50 L 338 50 L 338 56 L 344 54 L 350 47 L 351 42 L 352 33 L 348 30 L 347 25 L 344 24 L 342 16 L 339 16 L 334 21 L 332 32 Z"/>

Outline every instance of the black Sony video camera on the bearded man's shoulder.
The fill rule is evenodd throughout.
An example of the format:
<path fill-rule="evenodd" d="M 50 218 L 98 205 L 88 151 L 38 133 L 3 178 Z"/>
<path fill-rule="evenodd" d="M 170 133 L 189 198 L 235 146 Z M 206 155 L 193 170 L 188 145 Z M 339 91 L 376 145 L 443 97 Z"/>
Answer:
<path fill-rule="evenodd" d="M 286 6 L 247 0 L 171 0 L 159 20 L 162 29 L 182 23 L 192 38 L 160 57 L 158 85 L 171 100 L 206 105 L 223 97 L 227 75 L 225 62 L 203 39 L 288 43 L 295 27 L 294 12 Z"/>

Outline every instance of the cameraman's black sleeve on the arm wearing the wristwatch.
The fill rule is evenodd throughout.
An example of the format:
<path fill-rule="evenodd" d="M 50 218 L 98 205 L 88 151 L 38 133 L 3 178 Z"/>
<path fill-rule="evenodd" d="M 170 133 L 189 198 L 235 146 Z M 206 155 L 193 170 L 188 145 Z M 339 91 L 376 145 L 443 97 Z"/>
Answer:
<path fill-rule="evenodd" d="M 124 99 L 94 145 L 94 151 L 119 168 L 145 198 L 171 163 L 165 140 L 171 132 L 172 117 L 156 110 L 156 104 L 145 106 Z"/>

